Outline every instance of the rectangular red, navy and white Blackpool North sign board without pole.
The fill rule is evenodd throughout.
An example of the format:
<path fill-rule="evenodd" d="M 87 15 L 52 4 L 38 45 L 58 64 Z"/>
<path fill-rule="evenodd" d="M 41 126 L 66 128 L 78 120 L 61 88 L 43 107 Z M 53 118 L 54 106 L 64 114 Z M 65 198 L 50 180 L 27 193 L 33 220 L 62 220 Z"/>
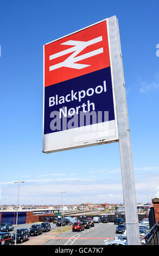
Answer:
<path fill-rule="evenodd" d="M 118 141 L 109 19 L 43 49 L 43 152 Z"/>

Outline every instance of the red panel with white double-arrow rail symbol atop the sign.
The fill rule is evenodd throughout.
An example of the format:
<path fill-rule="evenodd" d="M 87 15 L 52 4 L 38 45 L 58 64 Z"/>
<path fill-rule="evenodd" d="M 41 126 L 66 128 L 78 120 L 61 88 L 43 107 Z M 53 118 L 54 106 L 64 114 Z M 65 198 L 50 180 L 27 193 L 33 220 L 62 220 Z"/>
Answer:
<path fill-rule="evenodd" d="M 110 66 L 106 21 L 44 46 L 44 86 Z"/>

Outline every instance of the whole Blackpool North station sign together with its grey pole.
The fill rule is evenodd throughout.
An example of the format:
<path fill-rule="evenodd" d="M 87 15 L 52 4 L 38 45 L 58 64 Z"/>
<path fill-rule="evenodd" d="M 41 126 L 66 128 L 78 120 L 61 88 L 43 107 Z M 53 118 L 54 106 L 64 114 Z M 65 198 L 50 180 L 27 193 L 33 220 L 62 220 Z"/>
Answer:
<path fill-rule="evenodd" d="M 119 142 L 129 245 L 139 245 L 116 16 L 44 45 L 43 153 Z"/>

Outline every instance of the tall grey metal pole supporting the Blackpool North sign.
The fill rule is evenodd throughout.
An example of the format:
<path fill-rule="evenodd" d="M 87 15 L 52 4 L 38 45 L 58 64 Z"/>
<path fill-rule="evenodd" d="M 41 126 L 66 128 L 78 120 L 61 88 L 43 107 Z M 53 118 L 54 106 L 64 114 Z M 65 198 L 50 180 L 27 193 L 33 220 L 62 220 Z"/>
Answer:
<path fill-rule="evenodd" d="M 140 245 L 135 179 L 133 174 L 133 162 L 130 141 L 130 127 L 126 102 L 118 20 L 116 16 L 112 16 L 107 21 L 112 84 L 113 90 L 115 92 L 115 102 L 117 109 L 120 162 L 122 168 L 123 196 L 125 206 L 126 235 L 128 239 L 128 245 Z"/>

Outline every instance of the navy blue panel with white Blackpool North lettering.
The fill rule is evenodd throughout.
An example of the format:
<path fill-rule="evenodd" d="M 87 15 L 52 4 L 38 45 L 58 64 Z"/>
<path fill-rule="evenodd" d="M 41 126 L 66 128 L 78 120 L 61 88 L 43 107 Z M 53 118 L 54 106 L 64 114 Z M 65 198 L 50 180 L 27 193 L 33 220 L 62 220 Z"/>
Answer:
<path fill-rule="evenodd" d="M 101 117 L 81 123 L 81 112 L 93 111 Z M 45 87 L 44 117 L 44 134 L 115 120 L 110 67 Z"/>

